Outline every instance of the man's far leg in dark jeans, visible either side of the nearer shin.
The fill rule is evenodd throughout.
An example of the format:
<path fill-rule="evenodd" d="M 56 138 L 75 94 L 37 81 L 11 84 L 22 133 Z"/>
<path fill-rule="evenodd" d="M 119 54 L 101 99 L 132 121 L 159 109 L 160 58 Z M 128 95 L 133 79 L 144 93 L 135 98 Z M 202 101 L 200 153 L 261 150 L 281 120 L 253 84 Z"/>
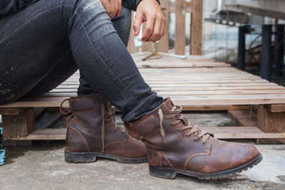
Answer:
<path fill-rule="evenodd" d="M 118 32 L 118 36 L 120 37 L 120 40 L 123 41 L 126 47 L 128 46 L 128 40 L 130 36 L 131 16 L 132 16 L 132 11 L 122 5 L 120 16 L 115 16 L 113 19 L 111 19 L 113 26 L 115 28 L 115 31 Z M 79 82 L 80 82 L 80 85 L 77 91 L 78 96 L 98 93 L 98 91 L 95 90 L 84 79 L 83 75 L 81 75 Z"/>

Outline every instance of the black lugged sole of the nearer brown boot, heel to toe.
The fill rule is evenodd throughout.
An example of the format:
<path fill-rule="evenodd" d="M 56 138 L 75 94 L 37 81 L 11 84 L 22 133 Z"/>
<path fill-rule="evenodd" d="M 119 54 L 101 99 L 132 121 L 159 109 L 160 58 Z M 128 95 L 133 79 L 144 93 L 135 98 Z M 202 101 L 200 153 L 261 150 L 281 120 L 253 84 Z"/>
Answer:
<path fill-rule="evenodd" d="M 202 174 L 192 171 L 186 171 L 183 169 L 173 169 L 170 167 L 150 167 L 150 175 L 164 179 L 175 179 L 177 174 L 195 176 L 199 179 L 221 179 L 227 176 L 232 176 L 234 174 L 241 173 L 242 171 L 246 171 L 247 169 L 254 167 L 254 165 L 259 164 L 261 160 L 262 160 L 262 155 L 261 153 L 259 153 L 259 156 L 257 156 L 255 159 L 253 159 L 251 162 L 248 162 L 247 164 L 244 164 L 240 167 L 236 167 L 234 169 L 220 171 L 212 174 Z"/>

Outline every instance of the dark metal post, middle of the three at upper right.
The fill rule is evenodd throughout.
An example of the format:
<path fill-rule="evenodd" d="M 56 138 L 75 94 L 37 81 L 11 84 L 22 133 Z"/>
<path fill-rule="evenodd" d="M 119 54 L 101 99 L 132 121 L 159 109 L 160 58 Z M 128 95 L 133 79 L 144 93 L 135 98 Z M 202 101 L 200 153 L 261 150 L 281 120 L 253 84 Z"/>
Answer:
<path fill-rule="evenodd" d="M 272 25 L 264 24 L 262 25 L 262 44 L 261 44 L 261 65 L 260 65 L 260 75 L 261 78 L 270 80 L 271 78 L 271 35 L 272 35 Z"/>

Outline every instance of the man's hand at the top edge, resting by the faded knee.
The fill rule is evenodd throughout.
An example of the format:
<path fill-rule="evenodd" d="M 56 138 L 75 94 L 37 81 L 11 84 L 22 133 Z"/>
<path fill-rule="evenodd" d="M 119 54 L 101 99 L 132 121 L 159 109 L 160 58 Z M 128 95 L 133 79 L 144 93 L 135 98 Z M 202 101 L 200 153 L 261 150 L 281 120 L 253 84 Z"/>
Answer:
<path fill-rule="evenodd" d="M 122 0 L 100 0 L 101 4 L 104 6 L 108 12 L 110 19 L 115 15 L 120 16 L 120 10 L 122 9 Z"/>

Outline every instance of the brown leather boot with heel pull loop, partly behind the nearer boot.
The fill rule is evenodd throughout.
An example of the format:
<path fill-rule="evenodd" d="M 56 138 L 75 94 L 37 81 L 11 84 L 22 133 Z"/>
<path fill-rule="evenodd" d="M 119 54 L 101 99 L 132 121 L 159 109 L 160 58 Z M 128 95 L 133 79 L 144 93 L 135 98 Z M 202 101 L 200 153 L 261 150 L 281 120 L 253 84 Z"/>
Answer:
<path fill-rule="evenodd" d="M 67 119 L 66 162 L 95 162 L 96 157 L 123 163 L 147 162 L 145 144 L 115 124 L 114 112 L 102 96 L 88 95 L 66 100 L 70 111 L 63 114 L 72 113 Z"/>

